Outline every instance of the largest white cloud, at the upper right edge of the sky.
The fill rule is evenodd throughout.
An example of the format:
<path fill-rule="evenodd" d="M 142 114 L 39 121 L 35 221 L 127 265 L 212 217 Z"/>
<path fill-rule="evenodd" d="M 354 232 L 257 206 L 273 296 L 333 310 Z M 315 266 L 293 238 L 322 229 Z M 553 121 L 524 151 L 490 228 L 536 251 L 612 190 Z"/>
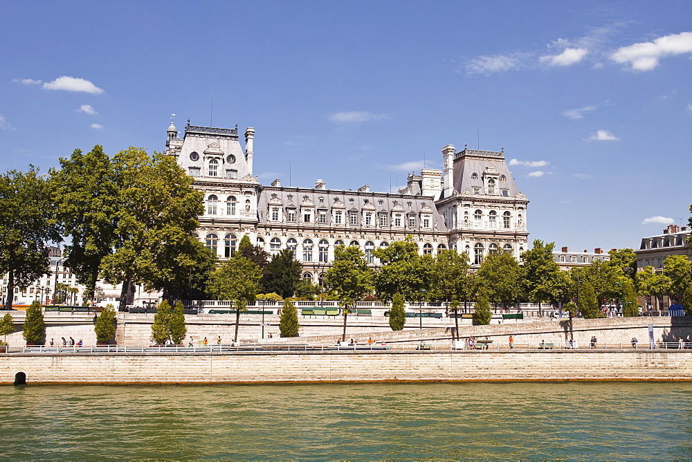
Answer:
<path fill-rule="evenodd" d="M 664 56 L 692 53 L 692 32 L 671 34 L 653 41 L 618 48 L 610 59 L 618 64 L 628 64 L 632 71 L 651 71 Z"/>

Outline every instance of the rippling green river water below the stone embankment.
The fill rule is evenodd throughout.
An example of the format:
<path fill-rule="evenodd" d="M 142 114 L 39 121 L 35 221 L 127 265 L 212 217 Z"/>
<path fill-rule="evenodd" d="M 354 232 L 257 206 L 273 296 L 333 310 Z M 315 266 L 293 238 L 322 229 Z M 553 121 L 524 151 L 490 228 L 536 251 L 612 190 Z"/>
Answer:
<path fill-rule="evenodd" d="M 0 387 L 2 459 L 691 459 L 692 384 Z"/>

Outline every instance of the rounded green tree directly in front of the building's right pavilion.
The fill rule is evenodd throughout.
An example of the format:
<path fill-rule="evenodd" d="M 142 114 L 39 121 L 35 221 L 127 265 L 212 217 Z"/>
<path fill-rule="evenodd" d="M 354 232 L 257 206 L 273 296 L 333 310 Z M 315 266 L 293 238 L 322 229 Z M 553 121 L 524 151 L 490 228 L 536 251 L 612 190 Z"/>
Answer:
<path fill-rule="evenodd" d="M 491 302 L 507 307 L 522 294 L 521 268 L 509 252 L 493 252 L 485 257 L 476 277 Z"/>

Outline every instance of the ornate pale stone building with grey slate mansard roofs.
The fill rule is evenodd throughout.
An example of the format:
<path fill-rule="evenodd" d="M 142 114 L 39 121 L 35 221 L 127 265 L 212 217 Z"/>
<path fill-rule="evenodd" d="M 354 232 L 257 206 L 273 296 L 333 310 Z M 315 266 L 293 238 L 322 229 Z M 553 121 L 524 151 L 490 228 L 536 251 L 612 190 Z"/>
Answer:
<path fill-rule="evenodd" d="M 488 252 L 504 250 L 515 257 L 528 239 L 526 206 L 504 161 L 504 149 L 457 152 L 444 147 L 444 178 L 435 169 L 410 174 L 397 193 L 330 190 L 325 181 L 314 187 L 286 187 L 280 179 L 261 185 L 253 176 L 255 129 L 185 126 L 167 130 L 165 154 L 194 178 L 204 192 L 205 213 L 199 217 L 198 238 L 219 258 L 233 255 L 247 234 L 253 243 L 274 254 L 290 248 L 301 261 L 303 277 L 322 278 L 334 248 L 358 246 L 373 268 L 375 248 L 412 235 L 421 255 L 453 248 L 466 251 L 473 264 Z"/>

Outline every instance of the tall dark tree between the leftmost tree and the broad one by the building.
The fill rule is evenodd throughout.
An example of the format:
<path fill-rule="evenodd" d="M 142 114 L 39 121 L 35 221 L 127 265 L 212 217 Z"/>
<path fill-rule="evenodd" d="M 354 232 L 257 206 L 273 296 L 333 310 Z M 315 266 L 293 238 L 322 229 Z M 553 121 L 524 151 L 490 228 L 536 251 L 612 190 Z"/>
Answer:
<path fill-rule="evenodd" d="M 119 186 L 113 164 L 103 147 L 86 154 L 75 149 L 70 158 L 60 159 L 60 170 L 51 171 L 55 212 L 70 237 L 65 247 L 69 267 L 84 298 L 93 300 L 101 261 L 116 246 Z"/>

